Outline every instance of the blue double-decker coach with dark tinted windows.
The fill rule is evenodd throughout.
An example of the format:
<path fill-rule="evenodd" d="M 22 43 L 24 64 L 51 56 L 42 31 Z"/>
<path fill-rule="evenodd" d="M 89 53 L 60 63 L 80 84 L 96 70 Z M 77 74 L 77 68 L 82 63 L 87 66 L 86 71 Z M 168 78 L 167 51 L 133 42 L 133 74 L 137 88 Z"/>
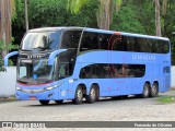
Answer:
<path fill-rule="evenodd" d="M 171 87 L 168 38 L 86 27 L 28 31 L 18 55 L 16 98 L 55 100 L 139 95 Z"/>

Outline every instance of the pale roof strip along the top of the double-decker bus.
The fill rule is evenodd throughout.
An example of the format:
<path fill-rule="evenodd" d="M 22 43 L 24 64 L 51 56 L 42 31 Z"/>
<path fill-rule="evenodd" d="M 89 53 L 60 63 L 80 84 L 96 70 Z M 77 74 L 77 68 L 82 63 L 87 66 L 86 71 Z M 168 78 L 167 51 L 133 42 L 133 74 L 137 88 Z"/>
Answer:
<path fill-rule="evenodd" d="M 151 39 L 170 40 L 166 37 L 133 34 L 133 33 L 125 33 L 125 32 L 116 32 L 116 31 L 107 31 L 107 29 L 89 28 L 89 27 L 79 27 L 79 26 L 42 27 L 42 28 L 30 29 L 28 32 L 49 32 L 49 31 L 59 31 L 59 29 L 63 29 L 63 31 L 67 31 L 67 29 L 83 29 L 83 31 L 95 32 L 95 33 L 105 33 L 105 34 L 118 33 L 118 34 L 125 35 L 125 36 L 136 36 L 136 37 L 151 38 Z"/>

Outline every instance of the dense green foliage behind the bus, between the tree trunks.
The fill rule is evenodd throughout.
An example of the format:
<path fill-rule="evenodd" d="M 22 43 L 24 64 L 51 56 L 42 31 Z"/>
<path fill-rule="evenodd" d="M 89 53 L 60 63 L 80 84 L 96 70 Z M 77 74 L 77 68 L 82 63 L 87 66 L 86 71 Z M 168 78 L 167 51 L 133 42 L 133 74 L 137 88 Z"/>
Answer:
<path fill-rule="evenodd" d="M 153 0 L 114 0 L 114 2 L 117 10 L 114 11 L 110 29 L 155 35 Z M 163 1 L 160 0 L 160 3 L 162 34 L 172 41 L 172 63 L 175 64 L 175 36 L 172 35 L 172 32 L 175 32 L 175 2 L 167 1 L 166 13 L 162 11 Z M 44 26 L 97 28 L 98 5 L 100 0 L 28 0 L 30 28 Z M 25 33 L 24 0 L 15 0 L 15 12 L 13 36 L 15 36 L 15 43 L 20 43 Z"/>

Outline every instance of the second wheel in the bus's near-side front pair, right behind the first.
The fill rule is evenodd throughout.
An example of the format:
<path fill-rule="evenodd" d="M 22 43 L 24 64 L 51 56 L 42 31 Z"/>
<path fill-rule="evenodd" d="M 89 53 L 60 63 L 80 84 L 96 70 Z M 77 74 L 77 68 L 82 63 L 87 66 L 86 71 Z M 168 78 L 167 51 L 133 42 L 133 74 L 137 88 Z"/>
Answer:
<path fill-rule="evenodd" d="M 90 88 L 90 94 L 86 96 L 88 103 L 92 104 L 96 100 L 96 95 L 97 95 L 96 93 L 97 93 L 96 86 L 92 85 Z"/>

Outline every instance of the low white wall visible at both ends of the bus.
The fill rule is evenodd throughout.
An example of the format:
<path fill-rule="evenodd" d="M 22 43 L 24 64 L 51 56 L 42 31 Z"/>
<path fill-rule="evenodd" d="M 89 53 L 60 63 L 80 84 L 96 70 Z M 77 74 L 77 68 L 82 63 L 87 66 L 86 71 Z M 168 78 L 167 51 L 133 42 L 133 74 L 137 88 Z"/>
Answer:
<path fill-rule="evenodd" d="M 172 87 L 175 87 L 175 66 L 172 67 Z M 7 72 L 0 72 L 0 96 L 10 96 L 15 94 L 16 68 L 8 67 Z"/>

